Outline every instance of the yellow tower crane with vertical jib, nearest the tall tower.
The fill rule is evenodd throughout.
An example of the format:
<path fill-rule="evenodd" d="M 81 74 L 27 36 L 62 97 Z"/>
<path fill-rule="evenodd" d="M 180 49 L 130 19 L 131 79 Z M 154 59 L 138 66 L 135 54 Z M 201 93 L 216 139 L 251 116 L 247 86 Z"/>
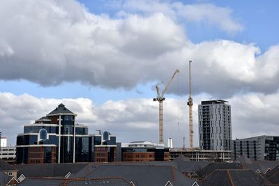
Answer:
<path fill-rule="evenodd" d="M 191 79 L 191 63 L 189 61 L 189 99 L 188 99 L 188 106 L 189 106 L 189 137 L 190 137 L 190 149 L 193 149 L 193 99 L 192 99 L 192 79 Z"/>

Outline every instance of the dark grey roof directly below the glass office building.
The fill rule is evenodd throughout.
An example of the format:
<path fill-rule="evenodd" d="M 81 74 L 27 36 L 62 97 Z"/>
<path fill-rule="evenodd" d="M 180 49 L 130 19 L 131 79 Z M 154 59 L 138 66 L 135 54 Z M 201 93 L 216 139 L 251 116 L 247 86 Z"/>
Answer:
<path fill-rule="evenodd" d="M 86 163 L 69 164 L 16 164 L 18 175 L 23 174 L 26 178 L 60 177 L 64 178 L 67 173 L 77 173 L 86 166 Z"/>

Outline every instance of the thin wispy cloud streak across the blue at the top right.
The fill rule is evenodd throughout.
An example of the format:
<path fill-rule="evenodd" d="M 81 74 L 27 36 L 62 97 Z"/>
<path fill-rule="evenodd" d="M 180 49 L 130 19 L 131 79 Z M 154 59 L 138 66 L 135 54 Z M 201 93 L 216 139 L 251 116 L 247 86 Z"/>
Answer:
<path fill-rule="evenodd" d="M 186 22 L 202 22 L 208 25 L 218 26 L 228 33 L 242 31 L 244 26 L 232 17 L 232 9 L 215 6 L 210 3 L 184 4 L 179 1 L 123 1 L 121 6 L 127 12 L 141 11 L 143 13 L 164 13 L 174 20 Z M 121 14 L 123 14 L 123 10 Z"/>

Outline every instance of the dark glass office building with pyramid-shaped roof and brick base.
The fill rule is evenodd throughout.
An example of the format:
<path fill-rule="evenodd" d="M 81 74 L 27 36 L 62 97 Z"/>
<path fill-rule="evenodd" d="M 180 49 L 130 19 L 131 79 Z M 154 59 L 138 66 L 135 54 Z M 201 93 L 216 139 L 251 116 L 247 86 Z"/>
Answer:
<path fill-rule="evenodd" d="M 75 123 L 76 116 L 59 104 L 24 125 L 24 133 L 17 135 L 17 164 L 116 161 L 116 137 L 106 131 L 88 134 L 87 126 Z"/>

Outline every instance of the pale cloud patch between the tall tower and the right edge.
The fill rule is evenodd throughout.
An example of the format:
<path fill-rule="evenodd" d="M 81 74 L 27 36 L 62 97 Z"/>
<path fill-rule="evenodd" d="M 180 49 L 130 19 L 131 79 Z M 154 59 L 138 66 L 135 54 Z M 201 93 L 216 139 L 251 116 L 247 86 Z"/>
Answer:
<path fill-rule="evenodd" d="M 229 99 L 232 105 L 232 130 L 234 138 L 257 135 L 278 135 L 277 120 L 279 93 L 264 95 L 248 93 L 234 95 Z"/>

